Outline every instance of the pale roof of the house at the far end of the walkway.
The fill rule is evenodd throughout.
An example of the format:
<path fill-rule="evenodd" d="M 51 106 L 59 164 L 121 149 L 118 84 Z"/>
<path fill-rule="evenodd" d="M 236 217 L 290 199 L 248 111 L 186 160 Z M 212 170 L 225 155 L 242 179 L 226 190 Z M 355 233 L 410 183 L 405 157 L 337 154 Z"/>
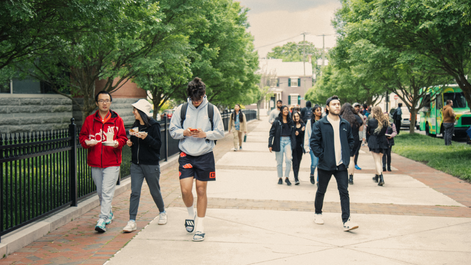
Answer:
<path fill-rule="evenodd" d="M 303 62 L 283 62 L 283 59 L 260 59 L 258 73 L 272 72 L 276 73 L 276 76 L 303 76 L 304 68 Z M 306 76 L 312 76 L 312 64 L 304 62 L 306 64 Z"/>

